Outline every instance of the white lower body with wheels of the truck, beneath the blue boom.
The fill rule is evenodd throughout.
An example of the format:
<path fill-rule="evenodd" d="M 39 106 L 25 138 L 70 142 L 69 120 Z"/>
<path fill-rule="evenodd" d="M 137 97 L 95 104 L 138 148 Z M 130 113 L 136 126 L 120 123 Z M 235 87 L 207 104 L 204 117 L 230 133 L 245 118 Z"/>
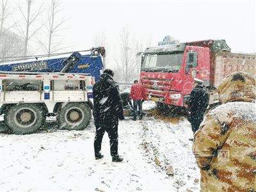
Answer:
<path fill-rule="evenodd" d="M 13 104 L 16 106 L 15 110 L 19 110 L 19 105 L 26 104 L 28 109 L 20 111 L 20 114 L 13 116 L 13 118 L 17 118 L 18 123 L 16 122 L 16 125 L 25 125 L 25 120 L 27 120 L 27 125 L 29 124 L 28 118 L 31 116 L 34 118 L 36 115 L 36 110 L 32 108 L 30 110 L 29 104 L 35 104 L 44 112 L 44 120 L 48 114 L 57 115 L 57 120 L 61 121 L 58 119 L 58 113 L 63 113 L 65 123 L 70 123 L 71 126 L 66 126 L 67 129 L 76 129 L 78 124 L 83 123 L 84 110 L 89 115 L 89 121 L 92 118 L 92 101 L 88 97 L 92 98 L 93 83 L 94 77 L 88 74 L 0 72 L 0 113 L 4 116 L 11 116 L 8 111 L 13 107 Z M 65 110 L 63 108 L 66 105 L 72 106 L 70 111 L 61 111 Z M 83 108 L 80 109 L 79 106 Z M 6 118 L 4 120 L 7 121 Z M 58 123 L 63 124 L 63 122 Z M 10 122 L 6 122 L 6 124 L 12 129 Z M 88 120 L 86 124 L 88 124 Z M 79 129 L 81 127 L 83 125 L 79 125 Z M 85 127 L 86 125 L 84 125 Z M 13 131 L 15 132 L 15 130 Z"/>

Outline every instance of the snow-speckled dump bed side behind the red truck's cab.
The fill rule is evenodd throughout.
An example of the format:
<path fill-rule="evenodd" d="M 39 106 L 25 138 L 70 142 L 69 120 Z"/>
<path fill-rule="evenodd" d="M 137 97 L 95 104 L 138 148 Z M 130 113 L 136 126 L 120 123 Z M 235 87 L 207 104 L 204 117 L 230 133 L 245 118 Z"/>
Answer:
<path fill-rule="evenodd" d="M 210 84 L 218 87 L 221 80 L 232 72 L 256 74 L 256 55 L 232 52 L 211 52 Z"/>

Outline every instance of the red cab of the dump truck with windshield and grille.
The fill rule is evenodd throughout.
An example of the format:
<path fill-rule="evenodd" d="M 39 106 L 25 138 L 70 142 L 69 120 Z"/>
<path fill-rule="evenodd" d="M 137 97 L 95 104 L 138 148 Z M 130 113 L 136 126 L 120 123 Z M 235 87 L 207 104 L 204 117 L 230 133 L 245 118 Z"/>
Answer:
<path fill-rule="evenodd" d="M 175 41 L 173 45 L 145 49 L 140 80 L 148 100 L 184 106 L 193 89 L 193 78 L 201 79 L 205 86 L 210 86 L 210 46 L 213 41 L 207 42 L 202 46 L 195 42 L 177 44 Z"/>

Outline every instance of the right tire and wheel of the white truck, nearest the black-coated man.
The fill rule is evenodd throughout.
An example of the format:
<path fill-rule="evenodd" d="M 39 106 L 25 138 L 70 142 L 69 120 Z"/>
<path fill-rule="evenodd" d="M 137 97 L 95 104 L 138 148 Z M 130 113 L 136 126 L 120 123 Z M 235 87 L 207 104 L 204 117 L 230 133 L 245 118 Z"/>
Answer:
<path fill-rule="evenodd" d="M 82 130 L 92 119 L 92 111 L 84 102 L 68 102 L 58 109 L 57 122 L 59 129 Z"/>

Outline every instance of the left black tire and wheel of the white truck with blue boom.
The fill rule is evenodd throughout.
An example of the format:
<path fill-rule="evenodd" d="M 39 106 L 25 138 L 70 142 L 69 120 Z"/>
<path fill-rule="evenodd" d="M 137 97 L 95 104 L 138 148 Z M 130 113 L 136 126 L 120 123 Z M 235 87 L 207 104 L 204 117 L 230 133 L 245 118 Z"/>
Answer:
<path fill-rule="evenodd" d="M 17 104 L 4 115 L 4 122 L 15 134 L 36 132 L 45 122 L 45 112 L 38 104 Z"/>

